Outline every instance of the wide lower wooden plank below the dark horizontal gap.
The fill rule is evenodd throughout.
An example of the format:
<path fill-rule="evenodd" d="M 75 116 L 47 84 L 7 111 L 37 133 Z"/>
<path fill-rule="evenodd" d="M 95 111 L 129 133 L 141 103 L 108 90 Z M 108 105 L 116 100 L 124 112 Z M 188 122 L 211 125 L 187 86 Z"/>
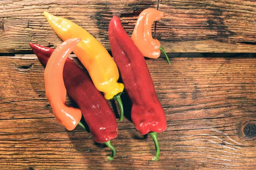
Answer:
<path fill-rule="evenodd" d="M 77 59 L 75 59 L 77 61 Z M 67 131 L 52 114 L 44 66 L 33 58 L 0 58 L 0 169 L 254 170 L 256 167 L 256 58 L 146 60 L 166 112 L 160 160 L 149 136 L 125 119 L 112 140 L 117 153 L 80 127 Z M 69 105 L 74 105 L 68 99 Z"/>

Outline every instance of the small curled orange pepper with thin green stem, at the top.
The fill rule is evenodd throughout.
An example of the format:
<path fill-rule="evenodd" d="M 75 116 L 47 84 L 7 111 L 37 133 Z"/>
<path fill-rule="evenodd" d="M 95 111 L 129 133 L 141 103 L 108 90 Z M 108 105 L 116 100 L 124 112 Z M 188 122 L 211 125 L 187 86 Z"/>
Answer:
<path fill-rule="evenodd" d="M 163 12 L 160 12 L 157 9 L 148 8 L 143 10 L 135 24 L 131 39 L 145 57 L 159 58 L 161 53 L 160 51 L 162 51 L 166 56 L 167 62 L 171 64 L 166 52 L 160 46 L 159 40 L 153 38 L 151 33 L 151 26 L 153 22 L 160 20 L 162 17 Z"/>

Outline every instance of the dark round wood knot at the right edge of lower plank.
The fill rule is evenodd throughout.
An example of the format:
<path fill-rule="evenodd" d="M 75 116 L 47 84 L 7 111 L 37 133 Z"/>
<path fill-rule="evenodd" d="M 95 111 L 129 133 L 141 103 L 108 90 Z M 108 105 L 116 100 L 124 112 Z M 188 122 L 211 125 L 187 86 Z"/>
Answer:
<path fill-rule="evenodd" d="M 256 121 L 247 121 L 244 123 L 241 132 L 247 140 L 256 139 Z"/>

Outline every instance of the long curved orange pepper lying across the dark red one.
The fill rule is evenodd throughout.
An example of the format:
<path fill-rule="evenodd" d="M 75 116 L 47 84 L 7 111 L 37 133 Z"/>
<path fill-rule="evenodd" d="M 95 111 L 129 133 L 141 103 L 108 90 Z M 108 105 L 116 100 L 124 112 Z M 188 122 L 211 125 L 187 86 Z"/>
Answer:
<path fill-rule="evenodd" d="M 67 130 L 75 129 L 82 116 L 80 109 L 67 107 L 67 90 L 63 80 L 64 63 L 80 40 L 74 38 L 61 43 L 52 53 L 44 71 L 46 97 L 56 120 Z"/>

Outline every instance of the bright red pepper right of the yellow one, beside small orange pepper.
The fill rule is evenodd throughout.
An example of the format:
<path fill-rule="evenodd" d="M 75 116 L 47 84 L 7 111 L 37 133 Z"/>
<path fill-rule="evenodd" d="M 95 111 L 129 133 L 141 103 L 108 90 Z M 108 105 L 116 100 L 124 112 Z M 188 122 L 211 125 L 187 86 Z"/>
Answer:
<path fill-rule="evenodd" d="M 140 134 L 149 133 L 153 138 L 156 156 L 152 160 L 157 161 L 160 154 L 157 133 L 165 131 L 167 125 L 147 64 L 116 16 L 109 23 L 108 37 L 113 58 L 132 101 L 131 119 Z"/>

